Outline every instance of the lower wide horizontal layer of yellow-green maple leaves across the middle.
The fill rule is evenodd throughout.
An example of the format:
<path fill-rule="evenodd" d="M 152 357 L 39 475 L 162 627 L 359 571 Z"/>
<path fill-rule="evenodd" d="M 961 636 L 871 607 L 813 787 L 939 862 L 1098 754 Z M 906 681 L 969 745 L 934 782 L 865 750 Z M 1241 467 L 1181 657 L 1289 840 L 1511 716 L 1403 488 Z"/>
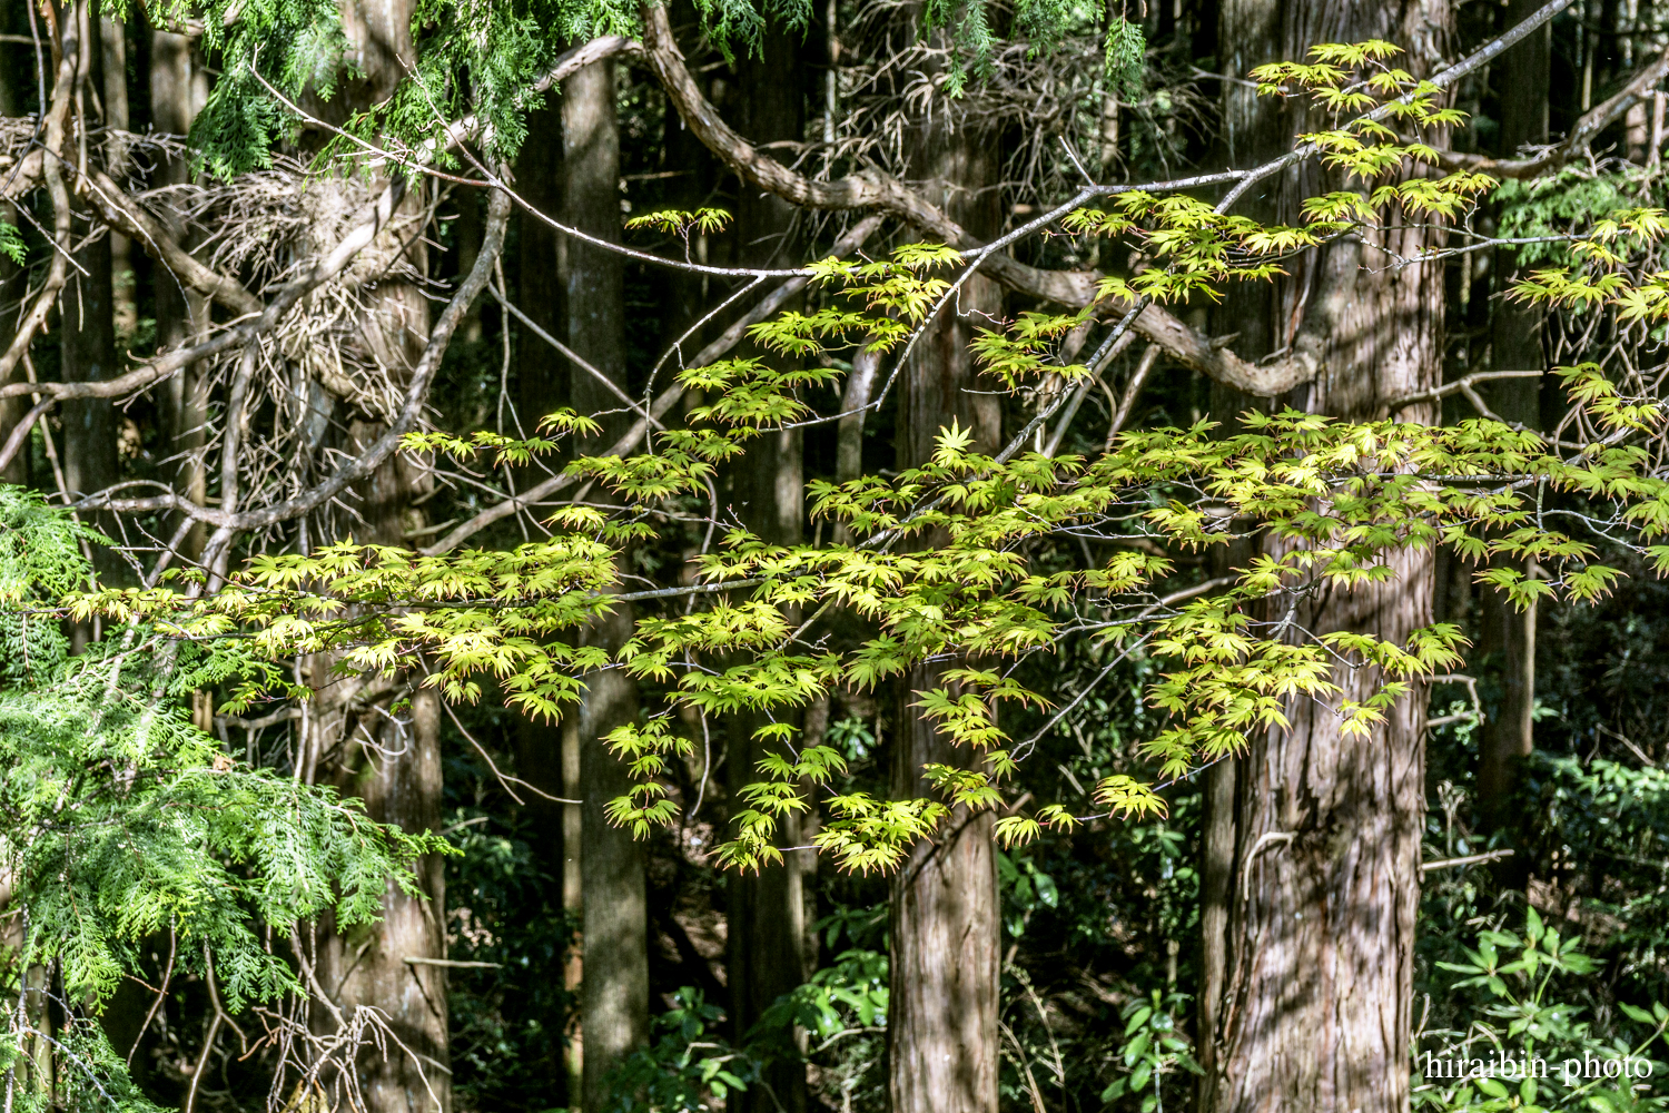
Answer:
<path fill-rule="evenodd" d="M 846 524 L 856 544 L 781 547 L 733 532 L 721 551 L 699 557 L 698 581 L 739 586 L 706 596 L 708 604 L 688 614 L 643 617 L 616 662 L 643 679 L 671 682 L 676 703 L 704 714 L 781 714 L 834 686 L 868 689 L 931 657 L 966 661 L 945 674 L 945 687 L 920 692 L 916 706 L 946 736 L 986 756 L 981 773 L 928 771 L 945 801 L 991 808 L 1013 769 L 996 708 L 1046 703 L 1015 682 L 1008 666 L 1046 652 L 1066 632 L 1090 632 L 1112 646 L 1147 639 L 1150 652 L 1172 662 L 1150 696 L 1173 724 L 1147 753 L 1162 774 L 1177 776 L 1238 748 L 1247 731 L 1283 726 L 1292 696 L 1337 698 L 1340 667 L 1379 677 L 1377 694 L 1339 704 L 1340 729 L 1365 734 L 1410 679 L 1452 667 L 1462 646 L 1452 626 L 1419 631 L 1402 646 L 1352 634 L 1292 642 L 1253 621 L 1258 601 L 1382 581 L 1392 574 L 1387 557 L 1437 541 L 1472 556 L 1537 556 L 1545 581 L 1487 574 L 1519 602 L 1537 594 L 1591 599 L 1609 589 L 1614 572 L 1589 564 L 1587 546 L 1537 524 L 1535 492 L 1545 486 L 1634 507 L 1669 506 L 1669 489 L 1637 472 L 1631 449 L 1602 449 L 1571 464 L 1537 437 L 1487 421 L 1434 429 L 1247 414 L 1238 436 L 1218 439 L 1205 426 L 1143 431 L 1093 462 L 1020 454 L 996 464 L 958 441 L 965 437 L 946 431 L 930 466 L 891 479 L 813 484 L 814 514 Z M 696 464 L 691 457 L 689 467 Z M 616 476 L 611 486 L 619 492 L 634 486 L 638 467 L 666 474 L 658 456 L 572 467 Z M 636 504 L 623 517 L 634 511 L 653 507 Z M 235 586 L 195 602 L 135 591 L 105 592 L 97 604 L 167 607 L 177 611 L 182 631 L 195 634 L 235 624 L 274 651 L 342 649 L 355 669 L 414 666 L 422 654 L 431 667 L 426 682 L 447 698 L 477 698 L 476 677 L 492 672 L 512 703 L 551 714 L 577 698 L 579 674 L 608 662 L 603 651 L 557 636 L 611 606 L 623 544 L 609 541 L 601 512 L 559 517 L 566 527 L 557 522 L 556 537 L 509 552 L 414 557 L 335 546 L 312 557 L 254 561 Z M 1642 532 L 1662 531 L 1652 516 L 1636 517 Z M 1150 586 L 1170 571 L 1158 556 L 1127 551 L 1102 567 L 1051 574 L 1033 571 L 1026 559 L 1028 542 L 1065 529 L 1205 547 L 1223 544 L 1230 522 L 1265 529 L 1285 542 L 1285 554 L 1258 557 L 1222 594 L 1180 607 L 1155 604 Z M 841 651 L 808 646 L 789 616 L 819 606 L 851 609 L 873 634 Z M 791 733 L 784 724 L 764 728 L 781 756 L 761 766 L 761 781 L 744 794 L 724 861 L 753 866 L 774 858 L 776 821 L 806 806 L 801 786 L 824 784 L 840 771 L 838 754 L 798 749 Z M 666 719 L 623 728 L 611 743 L 643 783 L 616 801 L 611 816 L 639 831 L 669 821 L 674 809 L 656 778 L 661 763 L 689 743 Z M 1162 808 L 1130 778 L 1108 779 L 1095 798 L 1135 814 Z M 858 869 L 895 864 L 945 814 L 940 801 L 866 794 L 829 796 L 821 808 L 828 821 L 818 844 Z M 1005 819 L 1001 834 L 1023 839 L 1036 823 L 1070 819 L 1065 809 L 1046 809 L 1035 821 Z"/>

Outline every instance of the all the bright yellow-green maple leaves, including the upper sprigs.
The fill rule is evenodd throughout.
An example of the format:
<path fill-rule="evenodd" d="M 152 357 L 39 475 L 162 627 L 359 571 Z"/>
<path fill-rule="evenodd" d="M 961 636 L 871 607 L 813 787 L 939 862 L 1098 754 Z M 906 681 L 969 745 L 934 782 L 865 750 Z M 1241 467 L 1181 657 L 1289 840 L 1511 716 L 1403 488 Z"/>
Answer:
<path fill-rule="evenodd" d="M 1312 63 L 1257 72 L 1265 88 L 1307 92 L 1335 115 L 1367 112 L 1303 137 L 1360 182 L 1360 192 L 1310 199 L 1302 229 L 1222 215 L 1183 195 L 1122 194 L 1107 212 L 1078 212 L 1065 222 L 1077 234 L 1137 244 L 1157 264 L 1133 279 L 1108 279 L 1103 294 L 1215 295 L 1225 280 L 1277 274 L 1282 255 L 1352 229 L 1464 212 L 1490 180 L 1412 172 L 1432 160 L 1430 149 L 1399 142 L 1379 122 L 1395 117 L 1430 128 L 1459 120 L 1435 105 L 1429 85 L 1389 68 L 1392 55 L 1385 43 L 1320 47 Z M 644 220 L 683 235 L 704 219 Z M 1579 245 L 1576 267 L 1537 272 L 1519 294 L 1669 315 L 1669 274 L 1631 275 L 1622 262 L 1629 237 L 1654 240 L 1662 229 L 1662 214 L 1619 214 Z M 1540 579 L 1507 567 L 1480 574 L 1519 606 L 1599 597 L 1617 572 L 1594 564 L 1589 544 L 1551 526 L 1544 512 L 1551 492 L 1577 496 L 1596 519 L 1632 527 L 1641 541 L 1669 531 L 1669 486 L 1654 476 L 1649 456 L 1626 442 L 1627 434 L 1656 434 L 1661 409 L 1651 399 L 1619 397 L 1592 365 L 1561 374 L 1572 400 L 1614 436 L 1571 457 L 1494 421 L 1427 427 L 1252 412 L 1233 436 L 1217 436 L 1203 422 L 1125 432 L 1098 459 L 985 456 L 953 424 L 921 467 L 809 484 L 813 517 L 838 526 L 828 532 L 841 542 L 784 547 L 731 529 L 718 549 L 694 557 L 694 587 L 638 596 L 671 597 L 676 606 L 644 609 L 613 657 L 572 644 L 574 632 L 616 606 L 628 546 L 689 507 L 704 512 L 716 467 L 741 457 L 763 431 L 816 419 L 808 387 L 834 382 L 838 370 L 828 365 L 834 357 L 860 345 L 898 350 L 946 295 L 958 265 L 958 252 L 923 244 L 885 260 L 813 264 L 826 295 L 821 305 L 751 330 L 759 347 L 791 357 L 784 360 L 791 365 L 756 357 L 683 370 L 681 382 L 704 394 L 689 427 L 654 434 L 636 456 L 567 464 L 606 489 L 616 509 L 566 507 L 551 517 L 549 541 L 441 557 L 342 544 L 307 557 L 255 559 L 204 599 L 132 591 L 78 606 L 152 614 L 192 637 L 244 631 L 274 654 L 340 651 L 350 669 L 422 669 L 424 682 L 449 699 L 477 699 L 479 677 L 492 674 L 511 703 L 536 716 L 554 716 L 577 699 L 587 671 L 624 667 L 666 686 L 673 706 L 701 716 L 746 711 L 766 721 L 759 738 L 768 756 L 758 783 L 741 794 L 733 839 L 719 848 L 723 863 L 756 868 L 776 859 L 778 824 L 808 808 L 811 786 L 823 796 L 816 844 L 843 868 L 868 871 L 895 866 L 951 806 L 1003 803 L 1005 783 L 1028 748 L 1010 739 L 998 708 L 1050 706 L 1046 692 L 1015 679 L 1013 666 L 1065 637 L 1098 639 L 1110 656 L 1142 646 L 1167 662 L 1148 698 L 1168 713 L 1168 726 L 1143 749 L 1160 776 L 1177 778 L 1243 746 L 1253 731 L 1283 729 L 1297 699 L 1325 703 L 1344 734 L 1365 738 L 1419 677 L 1460 659 L 1464 639 L 1454 626 L 1415 631 L 1404 644 L 1354 632 L 1308 636 L 1278 619 L 1307 592 L 1385 582 L 1404 551 L 1445 544 L 1480 567 L 1492 556 L 1534 557 Z M 1063 362 L 1060 347 L 1092 312 L 993 322 L 975 352 L 991 382 L 1011 390 L 1051 375 L 1082 377 L 1087 369 Z M 522 461 L 592 429 L 572 414 L 547 427 L 551 437 L 539 441 L 416 436 L 411 446 Z M 1173 569 L 1155 552 L 1198 551 L 1255 532 L 1275 542 L 1267 556 L 1217 594 L 1165 602 L 1158 587 Z M 1043 542 L 1085 534 L 1147 544 L 1095 567 L 1036 567 Z M 1669 569 L 1669 546 L 1642 551 Z M 856 626 L 860 636 L 836 639 L 819 626 L 836 609 L 851 617 L 845 629 Z M 834 687 L 873 689 L 930 661 L 953 664 L 941 686 L 915 694 L 913 706 L 946 738 L 978 751 L 980 768 L 925 769 L 936 799 L 833 791 L 845 768 L 840 754 L 796 743 L 791 713 Z M 1344 698 L 1344 671 L 1355 674 L 1352 691 L 1365 692 L 1360 699 Z M 245 691 L 239 699 L 254 696 Z M 611 804 L 611 819 L 639 834 L 671 823 L 676 808 L 661 776 L 671 758 L 689 753 L 689 741 L 666 716 L 621 728 L 609 741 L 638 779 Z M 1070 828 L 1093 808 L 1135 816 L 1163 809 L 1155 789 L 1132 776 L 1107 778 L 1090 794 L 1003 818 L 998 838 L 1023 843 L 1043 826 Z"/>

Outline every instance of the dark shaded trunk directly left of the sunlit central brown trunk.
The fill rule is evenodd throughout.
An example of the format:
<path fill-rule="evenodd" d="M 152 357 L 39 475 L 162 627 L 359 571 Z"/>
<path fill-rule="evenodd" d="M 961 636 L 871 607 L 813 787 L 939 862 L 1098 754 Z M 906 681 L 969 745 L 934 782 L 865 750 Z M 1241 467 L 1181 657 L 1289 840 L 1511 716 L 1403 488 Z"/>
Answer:
<path fill-rule="evenodd" d="M 754 144 L 804 138 L 804 85 L 801 43 L 778 17 L 764 35 L 761 55 L 741 60 L 738 87 L 743 93 L 738 127 Z M 776 195 L 743 189 L 736 214 L 738 262 L 754 267 L 794 267 L 799 239 L 794 207 Z M 776 364 L 781 355 L 754 352 Z M 769 431 L 753 441 L 748 456 L 733 472 L 731 487 L 738 511 L 751 531 L 768 544 L 794 546 L 804 541 L 803 436 L 798 429 Z M 758 763 L 764 746 L 753 731 L 764 726 L 758 714 L 731 721 L 728 773 L 731 799 L 759 779 Z M 776 744 L 779 748 L 779 744 Z M 803 816 L 783 816 L 779 846 L 803 843 Z M 779 866 L 741 873 L 726 879 L 729 894 L 728 986 L 731 1021 L 741 1038 L 758 1023 L 776 998 L 803 983 L 809 973 L 806 954 L 806 874 L 811 854 L 794 851 Z M 791 1051 L 783 1048 L 781 1051 Z M 764 1076 L 764 1088 L 734 1091 L 733 1113 L 803 1113 L 806 1108 L 804 1065 L 781 1058 Z"/>

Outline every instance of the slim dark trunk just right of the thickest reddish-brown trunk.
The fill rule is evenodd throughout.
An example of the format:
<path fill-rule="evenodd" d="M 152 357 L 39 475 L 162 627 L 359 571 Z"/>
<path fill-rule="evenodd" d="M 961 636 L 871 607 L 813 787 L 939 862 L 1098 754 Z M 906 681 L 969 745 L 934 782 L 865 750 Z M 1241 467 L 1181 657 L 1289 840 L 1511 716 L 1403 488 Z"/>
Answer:
<path fill-rule="evenodd" d="M 1530 0 L 1512 0 L 1502 23 L 1512 27 L 1535 10 Z M 1512 157 L 1525 144 L 1547 142 L 1547 85 L 1552 57 L 1552 25 L 1505 52 L 1497 63 L 1502 73 L 1500 154 Z M 1497 255 L 1504 259 L 1504 255 Z M 1519 277 L 1517 267 L 1497 267 L 1497 289 Z M 1542 309 L 1497 299 L 1490 319 L 1492 364 L 1499 370 L 1540 370 Z M 1509 422 L 1540 427 L 1540 380 L 1507 379 L 1492 384 L 1487 395 L 1494 410 Z M 1522 559 L 1509 561 L 1519 572 Z M 1519 764 L 1530 756 L 1534 733 L 1530 713 L 1535 708 L 1535 606 L 1517 609 L 1504 592 L 1480 589 L 1479 649 L 1497 671 L 1500 704 L 1485 721 L 1480 734 L 1477 766 L 1479 818 L 1489 828 L 1507 819 Z"/>

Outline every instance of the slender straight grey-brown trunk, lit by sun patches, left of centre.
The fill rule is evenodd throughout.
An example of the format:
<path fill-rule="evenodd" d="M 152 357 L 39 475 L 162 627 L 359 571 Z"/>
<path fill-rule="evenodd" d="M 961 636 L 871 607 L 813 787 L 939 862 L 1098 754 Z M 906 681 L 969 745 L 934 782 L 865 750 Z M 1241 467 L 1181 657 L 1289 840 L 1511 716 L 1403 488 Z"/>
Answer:
<path fill-rule="evenodd" d="M 598 62 L 562 88 L 562 212 L 567 222 L 599 239 L 619 242 L 619 123 L 614 65 Z M 566 249 L 567 342 L 592 367 L 626 385 L 624 269 L 621 257 L 571 240 Z M 579 367 L 571 367 L 569 397 L 581 414 L 611 412 L 603 437 L 611 444 L 631 414 L 619 399 Z M 589 632 L 594 644 L 619 649 L 631 636 L 631 607 L 618 606 Z M 638 716 L 638 686 L 609 669 L 586 679 L 579 714 L 579 778 L 584 784 L 581 889 L 584 908 L 582 1103 L 599 1113 L 609 1098 L 608 1076 L 649 1036 L 649 951 L 644 848 L 631 831 L 604 816 L 608 803 L 629 788 L 626 768 L 608 753 L 611 731 Z"/>

